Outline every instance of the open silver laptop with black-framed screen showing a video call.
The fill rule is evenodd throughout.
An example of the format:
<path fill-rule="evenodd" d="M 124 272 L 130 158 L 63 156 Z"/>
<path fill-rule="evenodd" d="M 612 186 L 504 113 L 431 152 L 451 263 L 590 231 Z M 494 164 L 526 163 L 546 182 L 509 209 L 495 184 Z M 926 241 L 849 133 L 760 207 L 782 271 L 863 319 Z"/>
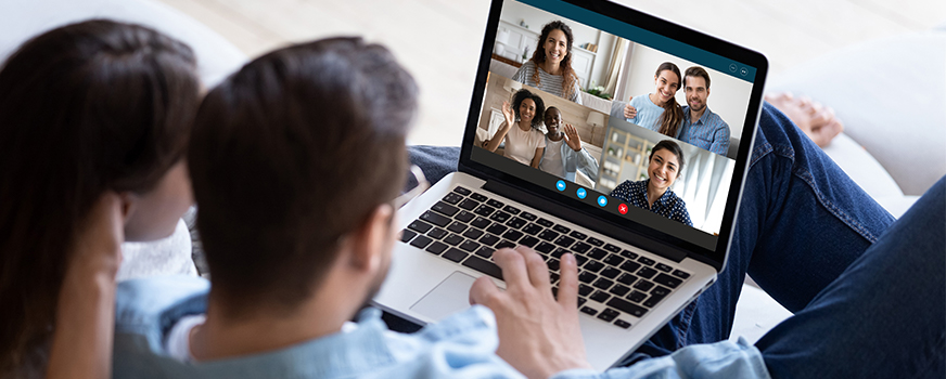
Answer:
<path fill-rule="evenodd" d="M 601 96 L 576 96 L 563 86 L 544 91 L 528 75 L 512 80 L 552 21 L 572 30 L 573 81 Z M 662 93 L 657 86 L 667 78 L 657 77 L 664 62 L 681 74 L 693 66 L 707 73 L 712 94 L 703 104 L 728 125 L 727 143 L 711 146 L 705 133 L 668 135 L 660 125 L 648 125 L 641 104 L 660 102 L 652 95 Z M 477 277 L 490 276 L 504 287 L 491 261 L 498 248 L 535 249 L 550 266 L 553 287 L 559 258 L 572 252 L 579 263 L 578 308 L 588 358 L 598 369 L 621 362 L 726 266 L 767 69 L 757 52 L 613 2 L 493 0 L 458 172 L 398 210 L 402 234 L 373 305 L 419 324 L 437 322 L 470 306 L 469 290 Z M 685 86 L 678 86 L 674 97 L 687 106 Z M 541 99 L 542 104 L 532 101 L 537 108 L 555 107 L 563 123 L 576 128 L 580 165 L 534 168 L 534 155 L 515 157 L 522 145 L 511 145 L 522 139 L 506 138 L 504 146 L 486 148 L 495 145 L 485 141 L 497 136 L 504 120 L 502 103 L 514 103 L 523 90 Z M 639 106 L 640 117 L 625 117 L 628 103 Z M 542 122 L 532 127 L 537 131 L 520 131 L 535 136 L 547 130 Z M 667 158 L 657 154 L 668 152 L 664 141 L 679 146 L 679 174 L 667 190 L 672 194 L 641 201 L 647 198 L 642 188 L 657 183 L 651 177 L 667 180 L 651 159 L 652 154 Z M 664 147 L 655 149 L 657 144 Z M 546 152 L 554 148 L 549 142 Z M 563 162 L 566 155 L 576 159 L 561 152 Z M 561 171 L 572 166 L 575 172 Z"/>

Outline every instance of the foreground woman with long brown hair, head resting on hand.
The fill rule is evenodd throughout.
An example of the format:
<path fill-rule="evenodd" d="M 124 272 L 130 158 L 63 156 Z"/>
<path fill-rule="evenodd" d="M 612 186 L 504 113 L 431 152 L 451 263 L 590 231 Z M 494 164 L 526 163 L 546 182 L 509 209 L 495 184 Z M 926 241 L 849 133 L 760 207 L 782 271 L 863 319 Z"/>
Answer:
<path fill-rule="evenodd" d="M 125 240 L 170 235 L 193 202 L 183 154 L 193 52 L 90 21 L 0 69 L 0 378 L 107 378 Z"/>

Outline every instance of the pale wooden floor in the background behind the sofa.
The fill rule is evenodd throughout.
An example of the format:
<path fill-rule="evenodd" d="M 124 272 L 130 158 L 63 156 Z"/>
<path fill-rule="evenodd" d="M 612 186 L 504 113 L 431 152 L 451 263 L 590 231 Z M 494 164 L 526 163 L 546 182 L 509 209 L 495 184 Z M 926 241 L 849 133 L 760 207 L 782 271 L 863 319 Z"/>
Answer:
<path fill-rule="evenodd" d="M 420 83 L 410 141 L 457 145 L 486 21 L 486 0 L 159 0 L 203 22 L 250 56 L 338 35 L 387 44 Z M 621 0 L 757 50 L 771 75 L 861 41 L 946 23 L 944 0 Z"/>

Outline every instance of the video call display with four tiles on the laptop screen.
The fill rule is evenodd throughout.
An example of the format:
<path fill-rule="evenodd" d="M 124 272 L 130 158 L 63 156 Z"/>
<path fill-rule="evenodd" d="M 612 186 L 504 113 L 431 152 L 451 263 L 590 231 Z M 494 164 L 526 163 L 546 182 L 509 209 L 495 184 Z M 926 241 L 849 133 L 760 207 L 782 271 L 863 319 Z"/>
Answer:
<path fill-rule="evenodd" d="M 503 3 L 473 159 L 715 249 L 755 69 L 570 6 Z"/>

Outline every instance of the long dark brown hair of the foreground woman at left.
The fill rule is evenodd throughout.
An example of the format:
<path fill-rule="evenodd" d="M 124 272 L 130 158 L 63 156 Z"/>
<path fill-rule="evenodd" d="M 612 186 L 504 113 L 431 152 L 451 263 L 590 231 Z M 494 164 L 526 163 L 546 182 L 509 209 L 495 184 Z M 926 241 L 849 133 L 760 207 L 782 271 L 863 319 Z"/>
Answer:
<path fill-rule="evenodd" d="M 78 223 L 106 191 L 146 193 L 186 152 L 194 54 L 153 29 L 88 21 L 0 68 L 0 377 L 40 377 Z"/>

